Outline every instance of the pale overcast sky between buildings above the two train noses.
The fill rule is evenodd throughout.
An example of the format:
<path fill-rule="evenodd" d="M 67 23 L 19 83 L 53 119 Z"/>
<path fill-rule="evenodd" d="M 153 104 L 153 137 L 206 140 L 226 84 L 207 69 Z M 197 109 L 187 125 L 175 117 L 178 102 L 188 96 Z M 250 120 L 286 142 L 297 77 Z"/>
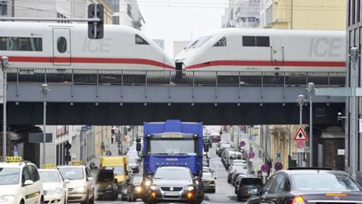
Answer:
<path fill-rule="evenodd" d="M 165 52 L 173 56 L 174 40 L 194 40 L 221 26 L 227 0 L 138 0 L 146 21 L 143 32 L 165 39 Z"/>

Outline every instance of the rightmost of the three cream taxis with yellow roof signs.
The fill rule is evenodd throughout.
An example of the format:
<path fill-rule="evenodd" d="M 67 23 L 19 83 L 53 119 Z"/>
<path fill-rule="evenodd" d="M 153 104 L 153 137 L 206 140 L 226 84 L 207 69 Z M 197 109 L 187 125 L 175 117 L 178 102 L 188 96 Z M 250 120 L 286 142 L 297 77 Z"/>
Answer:
<path fill-rule="evenodd" d="M 70 180 L 69 203 L 94 203 L 94 178 L 90 175 L 88 167 L 81 161 L 72 161 L 71 166 L 58 166 L 58 170 L 64 179 Z"/>

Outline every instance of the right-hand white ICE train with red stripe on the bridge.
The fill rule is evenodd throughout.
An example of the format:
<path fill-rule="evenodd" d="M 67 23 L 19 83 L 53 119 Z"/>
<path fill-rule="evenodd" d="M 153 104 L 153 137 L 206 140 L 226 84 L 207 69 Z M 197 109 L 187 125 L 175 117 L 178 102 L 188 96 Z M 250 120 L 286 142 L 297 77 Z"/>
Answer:
<path fill-rule="evenodd" d="M 191 42 L 175 59 L 178 70 L 342 72 L 346 32 L 224 28 Z"/>

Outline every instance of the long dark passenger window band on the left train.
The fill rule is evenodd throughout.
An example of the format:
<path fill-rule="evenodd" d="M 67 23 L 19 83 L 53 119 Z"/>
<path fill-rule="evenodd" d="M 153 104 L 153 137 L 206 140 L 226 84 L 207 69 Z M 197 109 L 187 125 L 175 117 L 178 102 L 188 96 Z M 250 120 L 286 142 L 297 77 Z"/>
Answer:
<path fill-rule="evenodd" d="M 43 51 L 40 37 L 0 37 L 0 50 Z"/>

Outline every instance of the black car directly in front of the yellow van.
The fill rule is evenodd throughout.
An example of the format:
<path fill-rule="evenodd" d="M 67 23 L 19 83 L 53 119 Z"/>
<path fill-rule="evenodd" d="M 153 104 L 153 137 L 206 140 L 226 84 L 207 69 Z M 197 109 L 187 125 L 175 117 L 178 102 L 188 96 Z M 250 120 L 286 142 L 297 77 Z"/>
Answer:
<path fill-rule="evenodd" d="M 96 189 L 98 199 L 118 198 L 117 179 L 114 179 L 112 170 L 100 170 L 97 174 Z"/>

